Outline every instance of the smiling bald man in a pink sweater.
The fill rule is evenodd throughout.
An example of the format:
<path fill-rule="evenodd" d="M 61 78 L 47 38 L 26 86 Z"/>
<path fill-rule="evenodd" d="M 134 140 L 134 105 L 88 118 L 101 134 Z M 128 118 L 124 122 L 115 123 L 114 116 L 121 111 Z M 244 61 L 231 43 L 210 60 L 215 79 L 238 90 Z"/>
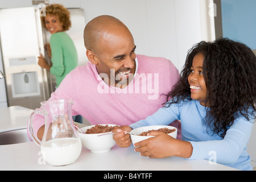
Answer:
<path fill-rule="evenodd" d="M 49 100 L 71 98 L 72 115 L 82 115 L 91 125 L 130 125 L 146 118 L 162 107 L 164 94 L 180 77 L 170 60 L 135 55 L 133 36 L 113 16 L 91 20 L 84 41 L 88 63 L 69 73 Z M 42 115 L 35 115 L 33 127 L 42 139 Z"/>

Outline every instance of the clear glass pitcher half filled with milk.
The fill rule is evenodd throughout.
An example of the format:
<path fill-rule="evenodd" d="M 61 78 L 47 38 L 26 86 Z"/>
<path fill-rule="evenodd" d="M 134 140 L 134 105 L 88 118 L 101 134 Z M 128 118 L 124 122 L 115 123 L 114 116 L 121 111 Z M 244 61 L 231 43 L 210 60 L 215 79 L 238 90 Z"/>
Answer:
<path fill-rule="evenodd" d="M 28 122 L 31 138 L 41 148 L 43 159 L 52 166 L 74 163 L 81 154 L 81 140 L 77 134 L 71 108 L 73 100 L 60 99 L 41 102 L 42 110 L 35 110 Z M 44 116 L 42 141 L 34 134 L 32 122 L 35 114 Z"/>

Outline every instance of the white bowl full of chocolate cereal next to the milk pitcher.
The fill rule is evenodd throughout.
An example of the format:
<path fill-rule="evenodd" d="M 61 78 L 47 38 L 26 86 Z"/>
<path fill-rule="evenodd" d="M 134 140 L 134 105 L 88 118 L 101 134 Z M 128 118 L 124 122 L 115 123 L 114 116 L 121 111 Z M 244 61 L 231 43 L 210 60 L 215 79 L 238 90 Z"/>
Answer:
<path fill-rule="evenodd" d="M 92 153 L 108 152 L 115 145 L 113 135 L 101 135 L 105 133 L 112 133 L 118 125 L 92 125 L 82 127 L 81 131 L 77 131 L 82 142 L 82 146 L 88 148 Z"/>

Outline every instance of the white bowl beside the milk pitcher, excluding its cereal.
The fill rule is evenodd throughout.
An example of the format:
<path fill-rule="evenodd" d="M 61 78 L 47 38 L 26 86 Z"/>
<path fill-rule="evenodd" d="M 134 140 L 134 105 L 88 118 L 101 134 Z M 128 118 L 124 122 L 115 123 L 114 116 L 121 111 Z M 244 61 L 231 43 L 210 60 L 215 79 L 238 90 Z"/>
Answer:
<path fill-rule="evenodd" d="M 117 126 L 117 125 L 110 125 L 106 124 L 108 126 Z M 81 130 L 86 132 L 86 130 L 90 129 L 92 126 L 86 126 L 82 127 Z M 105 126 L 105 125 L 102 125 Z M 82 142 L 82 146 L 88 148 L 92 153 L 102 153 L 102 152 L 108 152 L 111 150 L 111 148 L 115 145 L 115 141 L 113 140 L 113 135 L 102 135 L 98 137 L 100 134 L 83 134 L 79 130 L 77 131 L 79 134 L 79 137 Z M 108 132 L 112 133 L 112 132 Z M 101 133 L 102 134 L 102 133 Z"/>

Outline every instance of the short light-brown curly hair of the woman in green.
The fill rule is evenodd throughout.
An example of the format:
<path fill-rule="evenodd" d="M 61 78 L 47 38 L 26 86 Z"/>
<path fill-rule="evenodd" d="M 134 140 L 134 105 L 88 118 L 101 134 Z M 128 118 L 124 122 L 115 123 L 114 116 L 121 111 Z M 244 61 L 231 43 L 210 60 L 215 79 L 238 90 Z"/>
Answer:
<path fill-rule="evenodd" d="M 63 23 L 63 31 L 69 30 L 71 27 L 70 12 L 67 8 L 60 4 L 52 4 L 46 6 L 46 15 L 55 15 L 60 18 L 60 22 Z M 45 16 L 41 16 L 41 22 L 44 28 L 46 23 L 44 22 Z"/>

